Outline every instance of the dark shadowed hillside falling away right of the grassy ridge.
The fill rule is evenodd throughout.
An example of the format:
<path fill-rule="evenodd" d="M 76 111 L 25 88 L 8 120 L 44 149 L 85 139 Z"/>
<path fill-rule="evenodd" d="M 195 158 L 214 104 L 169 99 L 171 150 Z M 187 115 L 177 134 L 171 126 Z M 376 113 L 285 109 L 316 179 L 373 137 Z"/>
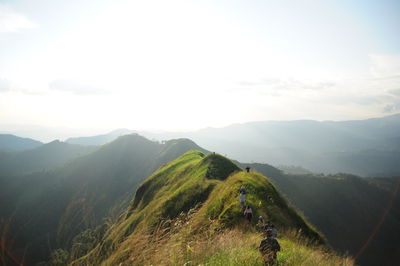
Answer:
<path fill-rule="evenodd" d="M 278 190 L 341 253 L 361 265 L 398 265 L 400 195 L 398 178 L 350 174 L 283 174 L 266 164 L 243 164 L 268 175 Z"/>

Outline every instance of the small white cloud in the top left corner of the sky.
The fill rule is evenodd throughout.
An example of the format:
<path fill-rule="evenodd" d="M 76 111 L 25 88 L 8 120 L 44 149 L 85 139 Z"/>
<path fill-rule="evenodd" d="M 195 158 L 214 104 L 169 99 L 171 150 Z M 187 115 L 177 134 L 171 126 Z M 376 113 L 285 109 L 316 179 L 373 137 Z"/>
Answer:
<path fill-rule="evenodd" d="M 0 4 L 0 33 L 18 32 L 22 29 L 36 28 L 37 25 L 23 14 Z"/>

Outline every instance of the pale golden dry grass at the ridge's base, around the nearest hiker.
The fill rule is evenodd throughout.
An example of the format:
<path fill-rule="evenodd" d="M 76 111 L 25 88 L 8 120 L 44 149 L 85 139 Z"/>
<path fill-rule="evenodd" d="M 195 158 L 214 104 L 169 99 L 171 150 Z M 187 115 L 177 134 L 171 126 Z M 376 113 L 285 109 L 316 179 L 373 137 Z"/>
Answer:
<path fill-rule="evenodd" d="M 190 217 L 160 223 L 153 233 L 134 233 L 102 265 L 263 265 L 258 252 L 261 235 L 246 223 L 193 234 Z M 277 265 L 353 265 L 299 232 L 284 232 Z"/>

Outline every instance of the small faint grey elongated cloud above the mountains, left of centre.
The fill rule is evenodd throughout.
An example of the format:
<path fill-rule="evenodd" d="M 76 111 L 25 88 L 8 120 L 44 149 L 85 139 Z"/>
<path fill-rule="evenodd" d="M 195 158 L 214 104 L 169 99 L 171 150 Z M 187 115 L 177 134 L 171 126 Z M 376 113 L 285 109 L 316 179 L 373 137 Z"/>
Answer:
<path fill-rule="evenodd" d="M 66 91 L 74 94 L 103 94 L 104 90 L 70 79 L 56 79 L 49 83 L 49 88 L 55 91 Z"/>

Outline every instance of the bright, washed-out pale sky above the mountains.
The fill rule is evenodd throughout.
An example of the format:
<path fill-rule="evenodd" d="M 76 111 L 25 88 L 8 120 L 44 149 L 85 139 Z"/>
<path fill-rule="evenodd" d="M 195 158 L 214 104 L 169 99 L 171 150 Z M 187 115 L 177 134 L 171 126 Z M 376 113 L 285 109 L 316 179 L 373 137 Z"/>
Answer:
<path fill-rule="evenodd" d="M 397 0 L 0 1 L 0 129 L 399 113 L 399 29 Z"/>

